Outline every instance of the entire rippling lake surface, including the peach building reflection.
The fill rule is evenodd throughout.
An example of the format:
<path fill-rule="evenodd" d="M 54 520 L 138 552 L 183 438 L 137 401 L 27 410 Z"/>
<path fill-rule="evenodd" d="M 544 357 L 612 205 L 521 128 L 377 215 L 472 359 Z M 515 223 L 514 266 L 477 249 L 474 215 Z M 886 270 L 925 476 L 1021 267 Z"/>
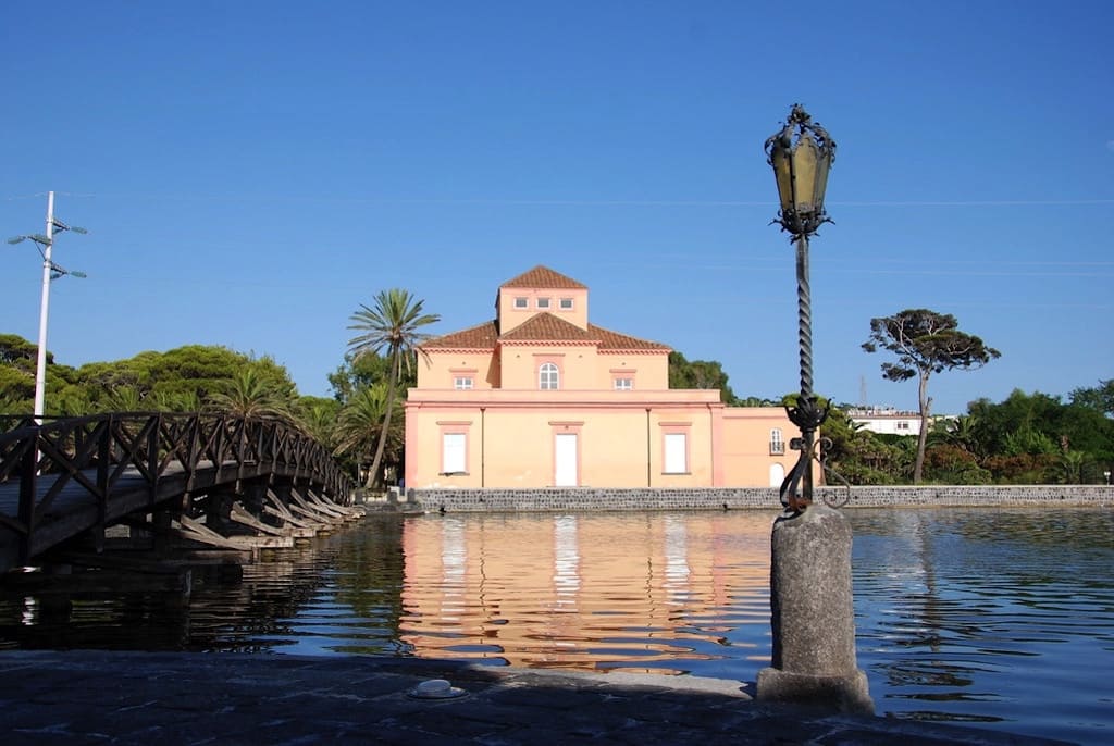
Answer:
<path fill-rule="evenodd" d="M 1114 742 L 1114 511 L 849 510 L 879 715 Z M 753 681 L 773 513 L 373 517 L 159 593 L 0 599 L 0 648 L 398 655 Z"/>

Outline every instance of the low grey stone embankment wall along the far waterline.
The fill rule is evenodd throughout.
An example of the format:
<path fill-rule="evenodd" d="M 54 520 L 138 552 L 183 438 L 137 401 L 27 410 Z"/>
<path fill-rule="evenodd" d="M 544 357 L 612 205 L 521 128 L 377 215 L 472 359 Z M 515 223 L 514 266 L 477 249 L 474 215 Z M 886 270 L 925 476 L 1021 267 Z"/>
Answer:
<path fill-rule="evenodd" d="M 853 487 L 817 488 L 847 508 L 1092 505 L 1114 507 L 1114 488 L 1036 484 L 1009 487 Z M 427 511 L 509 512 L 590 510 L 770 510 L 780 505 L 774 488 L 703 488 L 691 490 L 409 490 L 405 502 Z"/>

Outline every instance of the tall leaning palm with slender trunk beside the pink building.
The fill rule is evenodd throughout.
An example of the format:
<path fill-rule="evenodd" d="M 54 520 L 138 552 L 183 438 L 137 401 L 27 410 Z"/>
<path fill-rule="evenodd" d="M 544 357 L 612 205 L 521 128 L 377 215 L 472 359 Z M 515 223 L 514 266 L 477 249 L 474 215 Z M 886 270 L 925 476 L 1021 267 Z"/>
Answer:
<path fill-rule="evenodd" d="M 379 475 L 379 467 L 383 460 L 383 448 L 391 429 L 391 412 L 394 409 L 394 394 L 403 367 L 409 370 L 410 356 L 418 345 L 429 337 L 419 330 L 427 324 L 441 321 L 437 314 L 422 314 L 422 304 L 409 291 L 392 287 L 380 291 L 375 296 L 374 307 L 360 304 L 360 311 L 351 316 L 349 328 L 362 332 L 349 340 L 349 350 L 353 357 L 368 353 L 379 353 L 385 349 L 385 357 L 390 362 L 390 374 L 387 384 L 387 403 L 383 412 L 383 424 L 379 430 L 379 445 L 375 458 L 368 472 L 367 487 L 371 487 Z"/>

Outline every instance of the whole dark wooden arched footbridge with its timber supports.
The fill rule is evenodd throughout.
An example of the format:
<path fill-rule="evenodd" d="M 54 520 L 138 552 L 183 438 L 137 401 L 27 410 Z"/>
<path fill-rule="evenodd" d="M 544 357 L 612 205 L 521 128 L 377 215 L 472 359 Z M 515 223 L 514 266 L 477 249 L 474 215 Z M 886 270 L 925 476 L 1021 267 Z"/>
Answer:
<path fill-rule="evenodd" d="M 106 531 L 251 550 L 355 518 L 355 485 L 291 425 L 219 414 L 0 418 L 0 572 Z"/>

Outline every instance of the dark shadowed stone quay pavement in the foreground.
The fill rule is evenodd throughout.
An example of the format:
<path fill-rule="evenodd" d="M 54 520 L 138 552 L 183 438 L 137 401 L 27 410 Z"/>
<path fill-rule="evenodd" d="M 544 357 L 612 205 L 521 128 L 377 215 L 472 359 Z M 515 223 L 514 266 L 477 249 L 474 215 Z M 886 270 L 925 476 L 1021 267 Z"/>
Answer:
<path fill-rule="evenodd" d="M 465 694 L 418 699 L 422 681 Z M 739 681 L 476 667 L 418 658 L 0 652 L 18 744 L 1049 744 L 754 703 Z"/>

